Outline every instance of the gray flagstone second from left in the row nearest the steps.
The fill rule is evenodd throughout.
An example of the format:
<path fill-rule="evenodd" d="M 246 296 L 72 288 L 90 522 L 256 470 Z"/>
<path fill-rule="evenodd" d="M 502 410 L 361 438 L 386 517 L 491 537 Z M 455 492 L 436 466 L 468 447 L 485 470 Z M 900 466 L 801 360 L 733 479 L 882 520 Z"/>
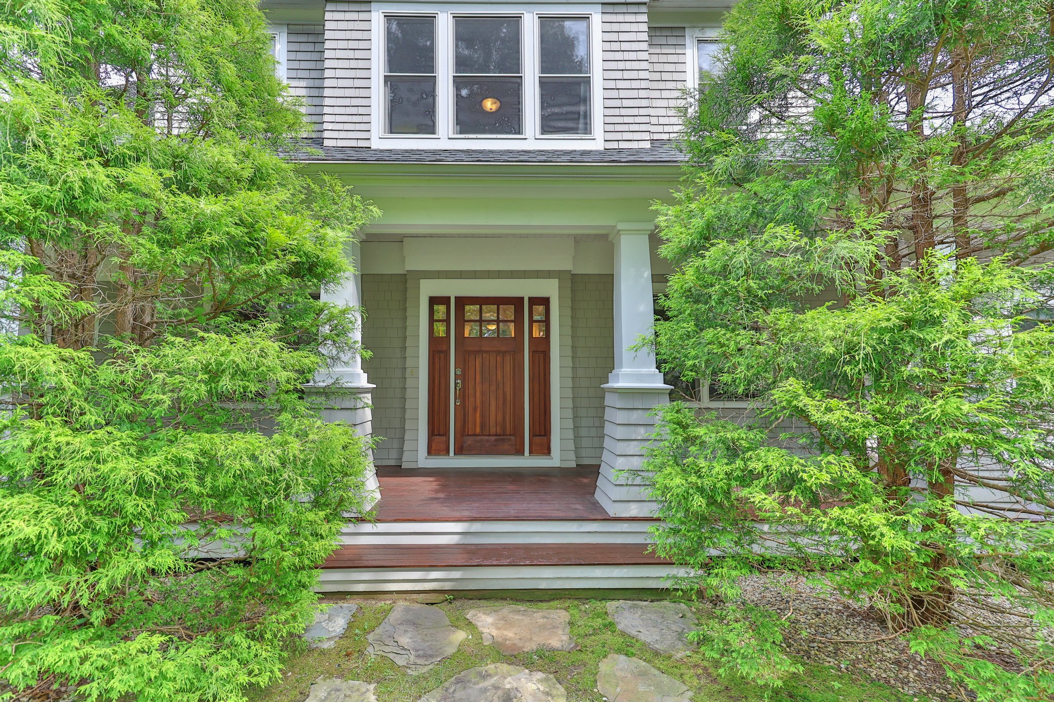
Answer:
<path fill-rule="evenodd" d="M 451 626 L 442 609 L 399 602 L 366 640 L 370 655 L 390 658 L 415 675 L 451 656 L 464 638 L 465 633 Z"/>

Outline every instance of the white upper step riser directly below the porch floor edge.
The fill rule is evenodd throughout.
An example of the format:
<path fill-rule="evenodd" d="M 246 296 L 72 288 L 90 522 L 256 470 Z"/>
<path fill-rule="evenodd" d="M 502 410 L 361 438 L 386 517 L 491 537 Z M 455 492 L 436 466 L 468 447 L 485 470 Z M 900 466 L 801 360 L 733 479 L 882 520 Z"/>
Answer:
<path fill-rule="evenodd" d="M 652 520 L 552 520 L 460 522 L 350 522 L 345 545 L 426 544 L 645 544 Z"/>

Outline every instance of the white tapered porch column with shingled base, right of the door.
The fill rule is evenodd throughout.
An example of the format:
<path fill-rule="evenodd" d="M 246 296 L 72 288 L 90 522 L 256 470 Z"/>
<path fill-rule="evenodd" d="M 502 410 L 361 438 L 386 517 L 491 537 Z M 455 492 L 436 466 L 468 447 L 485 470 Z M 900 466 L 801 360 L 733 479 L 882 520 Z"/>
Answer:
<path fill-rule="evenodd" d="M 643 472 L 647 435 L 655 430 L 648 413 L 669 401 L 650 348 L 631 350 L 651 334 L 652 222 L 620 222 L 610 235 L 614 244 L 614 369 L 604 387 L 604 452 L 594 497 L 612 517 L 649 517 L 657 503 Z"/>

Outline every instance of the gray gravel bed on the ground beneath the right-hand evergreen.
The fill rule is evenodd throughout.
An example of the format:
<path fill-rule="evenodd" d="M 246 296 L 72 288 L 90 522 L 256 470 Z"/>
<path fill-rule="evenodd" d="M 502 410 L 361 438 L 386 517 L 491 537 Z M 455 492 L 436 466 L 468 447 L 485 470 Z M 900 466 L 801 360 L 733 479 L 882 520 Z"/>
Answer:
<path fill-rule="evenodd" d="M 962 699 L 940 664 L 913 654 L 902 637 L 884 638 L 884 621 L 858 604 L 776 575 L 750 576 L 741 585 L 750 604 L 780 615 L 793 608 L 783 636 L 788 653 L 878 680 L 920 702 Z"/>

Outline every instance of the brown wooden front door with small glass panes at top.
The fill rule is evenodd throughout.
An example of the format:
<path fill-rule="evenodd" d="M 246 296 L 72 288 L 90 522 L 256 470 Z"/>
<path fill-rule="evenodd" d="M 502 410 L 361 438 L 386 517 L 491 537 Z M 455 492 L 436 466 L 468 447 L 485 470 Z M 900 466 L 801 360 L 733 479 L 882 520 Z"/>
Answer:
<path fill-rule="evenodd" d="M 454 298 L 454 454 L 523 455 L 523 298 Z"/>

